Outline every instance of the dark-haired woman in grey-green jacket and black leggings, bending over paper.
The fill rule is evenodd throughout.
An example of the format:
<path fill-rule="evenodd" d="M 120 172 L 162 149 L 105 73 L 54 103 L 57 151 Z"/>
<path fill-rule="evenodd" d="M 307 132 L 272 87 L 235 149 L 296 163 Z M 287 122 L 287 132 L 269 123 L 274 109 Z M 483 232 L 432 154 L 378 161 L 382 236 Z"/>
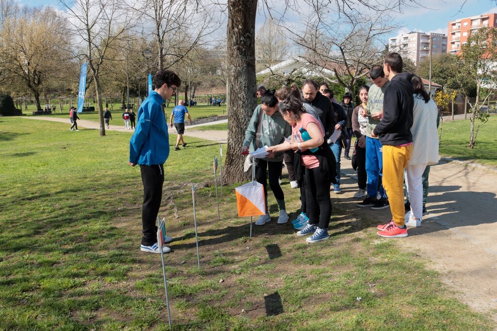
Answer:
<path fill-rule="evenodd" d="M 288 123 L 278 112 L 278 99 L 271 92 L 266 92 L 260 99 L 260 105 L 255 108 L 247 131 L 241 153 L 247 154 L 264 146 L 274 146 L 290 136 L 291 129 Z M 255 179 L 264 186 L 264 197 L 266 199 L 266 213 L 259 217 L 255 225 L 264 225 L 271 220 L 267 205 L 267 176 L 268 170 L 269 187 L 273 191 L 274 198 L 279 207 L 278 224 L 288 222 L 288 214 L 285 207 L 285 196 L 279 185 L 281 165 L 283 164 L 283 153 L 270 152 L 264 158 L 255 160 Z"/>

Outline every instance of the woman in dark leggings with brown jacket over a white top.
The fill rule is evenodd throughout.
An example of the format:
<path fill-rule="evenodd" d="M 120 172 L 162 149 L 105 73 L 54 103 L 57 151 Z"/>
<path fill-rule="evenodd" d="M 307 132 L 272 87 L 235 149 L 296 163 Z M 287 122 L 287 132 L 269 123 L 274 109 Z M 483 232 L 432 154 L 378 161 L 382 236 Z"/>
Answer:
<path fill-rule="evenodd" d="M 368 118 L 359 116 L 361 110 L 367 111 L 368 105 L 368 85 L 359 86 L 359 99 L 361 104 L 354 108 L 352 113 L 352 131 L 356 137 L 355 143 L 355 157 L 357 159 L 357 186 L 359 189 L 354 194 L 354 198 L 363 198 L 366 196 L 366 125 Z"/>

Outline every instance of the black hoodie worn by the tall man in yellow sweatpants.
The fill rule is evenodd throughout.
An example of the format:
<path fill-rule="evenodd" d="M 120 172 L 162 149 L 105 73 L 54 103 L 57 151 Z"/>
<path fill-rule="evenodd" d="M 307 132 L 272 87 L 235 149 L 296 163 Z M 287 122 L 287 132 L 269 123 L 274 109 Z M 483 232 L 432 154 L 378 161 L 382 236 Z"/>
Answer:
<path fill-rule="evenodd" d="M 396 74 L 385 89 L 383 118 L 373 132 L 384 145 L 399 146 L 413 142 L 414 87 L 413 74 Z"/>

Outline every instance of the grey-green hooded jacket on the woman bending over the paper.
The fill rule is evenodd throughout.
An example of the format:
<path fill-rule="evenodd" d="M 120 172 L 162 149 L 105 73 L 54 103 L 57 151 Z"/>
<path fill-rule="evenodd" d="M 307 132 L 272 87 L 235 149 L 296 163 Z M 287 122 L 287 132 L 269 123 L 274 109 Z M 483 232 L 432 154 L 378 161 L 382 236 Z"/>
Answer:
<path fill-rule="evenodd" d="M 260 141 L 259 145 L 255 146 L 255 135 L 257 133 L 257 127 L 259 125 L 259 113 L 262 112 L 262 125 L 260 126 Z M 292 134 L 292 128 L 283 119 L 281 114 L 277 111 L 272 116 L 267 116 L 258 105 L 253 111 L 252 118 L 248 124 L 247 131 L 245 131 L 244 146 L 249 146 L 249 150 L 253 152 L 259 147 L 264 147 L 265 145 L 274 146 L 282 143 L 285 137 L 289 137 Z M 275 153 L 273 158 L 263 158 L 266 161 L 282 161 L 283 152 Z"/>

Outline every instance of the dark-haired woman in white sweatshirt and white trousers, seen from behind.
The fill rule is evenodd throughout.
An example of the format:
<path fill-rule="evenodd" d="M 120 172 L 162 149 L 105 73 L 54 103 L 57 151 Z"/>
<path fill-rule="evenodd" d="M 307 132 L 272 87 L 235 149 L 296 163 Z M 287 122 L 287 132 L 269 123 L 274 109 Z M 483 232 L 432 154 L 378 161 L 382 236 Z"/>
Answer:
<path fill-rule="evenodd" d="M 438 163 L 438 108 L 424 89 L 421 78 L 414 74 L 413 152 L 406 167 L 406 185 L 411 210 L 406 213 L 406 225 L 421 226 L 423 185 L 421 176 L 427 165 Z"/>

